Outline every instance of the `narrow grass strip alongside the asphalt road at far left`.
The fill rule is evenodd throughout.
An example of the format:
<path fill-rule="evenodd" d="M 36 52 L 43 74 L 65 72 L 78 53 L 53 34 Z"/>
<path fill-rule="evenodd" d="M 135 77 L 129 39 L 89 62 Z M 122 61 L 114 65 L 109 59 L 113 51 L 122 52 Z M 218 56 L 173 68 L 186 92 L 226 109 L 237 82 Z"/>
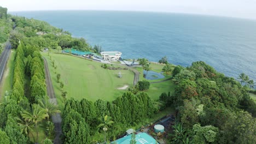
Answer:
<path fill-rule="evenodd" d="M 5 72 L 2 86 L 0 88 L 1 95 L 4 95 L 5 91 L 11 91 L 11 81 L 13 78 L 13 69 L 14 69 L 14 58 L 15 58 L 15 50 L 11 50 Z M 4 97 L 0 97 L 0 101 L 3 101 Z"/>

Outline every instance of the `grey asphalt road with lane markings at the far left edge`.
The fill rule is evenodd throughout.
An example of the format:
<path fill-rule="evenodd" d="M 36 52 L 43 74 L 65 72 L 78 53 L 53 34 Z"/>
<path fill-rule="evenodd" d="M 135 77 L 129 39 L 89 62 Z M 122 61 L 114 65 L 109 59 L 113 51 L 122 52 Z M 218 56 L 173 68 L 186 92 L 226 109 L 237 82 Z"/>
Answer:
<path fill-rule="evenodd" d="M 2 84 L 4 69 L 10 55 L 10 50 L 11 50 L 11 45 L 8 41 L 7 45 L 4 47 L 4 50 L 0 56 L 0 85 Z"/>

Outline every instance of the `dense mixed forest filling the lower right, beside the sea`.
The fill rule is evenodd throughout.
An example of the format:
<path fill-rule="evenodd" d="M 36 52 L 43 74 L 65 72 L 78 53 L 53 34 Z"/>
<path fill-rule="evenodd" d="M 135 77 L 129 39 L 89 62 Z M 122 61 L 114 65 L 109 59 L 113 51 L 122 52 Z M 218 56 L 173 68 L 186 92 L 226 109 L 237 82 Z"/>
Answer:
<path fill-rule="evenodd" d="M 247 85 L 204 62 L 175 69 L 175 93 L 165 97 L 177 109 L 171 143 L 255 143 L 256 105 Z"/>

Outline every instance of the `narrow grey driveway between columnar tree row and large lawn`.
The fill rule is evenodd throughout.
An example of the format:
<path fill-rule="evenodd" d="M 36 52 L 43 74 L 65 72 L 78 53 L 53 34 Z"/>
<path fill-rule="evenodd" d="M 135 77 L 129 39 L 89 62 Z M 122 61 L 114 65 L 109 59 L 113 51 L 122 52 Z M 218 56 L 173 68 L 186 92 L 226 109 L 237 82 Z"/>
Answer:
<path fill-rule="evenodd" d="M 47 87 L 47 93 L 49 96 L 49 100 L 53 101 L 55 105 L 57 105 L 55 93 L 54 93 L 54 88 L 53 88 L 53 83 L 51 82 L 51 76 L 50 72 L 48 69 L 48 63 L 45 58 L 44 59 L 44 70 L 45 70 L 45 79 L 46 79 L 46 87 Z M 60 136 L 61 136 L 61 116 L 60 113 L 57 113 L 53 118 L 53 123 L 55 125 L 55 139 L 54 143 L 61 143 Z"/>

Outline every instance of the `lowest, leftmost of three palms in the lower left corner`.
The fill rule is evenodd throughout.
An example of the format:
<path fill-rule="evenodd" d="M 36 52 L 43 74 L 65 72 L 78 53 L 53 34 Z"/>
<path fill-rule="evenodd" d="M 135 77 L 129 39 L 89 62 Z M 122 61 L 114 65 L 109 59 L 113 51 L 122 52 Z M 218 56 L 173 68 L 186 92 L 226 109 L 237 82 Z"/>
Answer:
<path fill-rule="evenodd" d="M 32 122 L 28 122 L 28 121 L 25 121 L 24 119 L 21 119 L 21 118 L 19 118 L 19 117 L 15 117 L 15 119 L 16 119 L 16 121 L 17 121 L 17 123 L 18 123 L 18 125 L 20 126 L 20 129 L 21 129 L 21 133 L 24 133 L 24 134 L 26 134 L 27 136 L 29 135 L 29 134 L 31 134 L 32 135 L 32 137 L 33 137 L 33 140 L 34 140 L 34 135 L 33 135 L 33 126 L 34 126 L 34 124 L 32 123 Z M 35 140 L 34 140 L 35 141 Z"/>

